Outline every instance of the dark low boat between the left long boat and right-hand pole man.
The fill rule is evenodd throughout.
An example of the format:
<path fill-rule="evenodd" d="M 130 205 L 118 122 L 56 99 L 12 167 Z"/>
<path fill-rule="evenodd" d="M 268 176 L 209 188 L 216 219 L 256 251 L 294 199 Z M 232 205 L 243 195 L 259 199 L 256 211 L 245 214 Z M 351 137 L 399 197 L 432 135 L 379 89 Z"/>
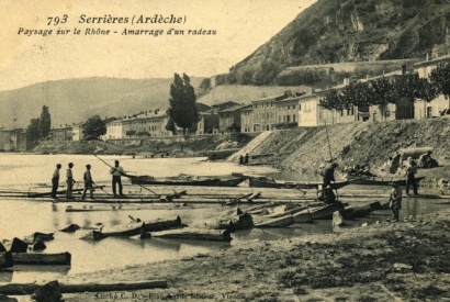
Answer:
<path fill-rule="evenodd" d="M 249 178 L 248 183 L 250 188 L 277 188 L 277 189 L 318 189 L 322 182 L 317 181 L 281 181 L 273 180 L 267 177 Z M 340 189 L 349 184 L 348 181 L 331 183 L 333 189 Z"/>

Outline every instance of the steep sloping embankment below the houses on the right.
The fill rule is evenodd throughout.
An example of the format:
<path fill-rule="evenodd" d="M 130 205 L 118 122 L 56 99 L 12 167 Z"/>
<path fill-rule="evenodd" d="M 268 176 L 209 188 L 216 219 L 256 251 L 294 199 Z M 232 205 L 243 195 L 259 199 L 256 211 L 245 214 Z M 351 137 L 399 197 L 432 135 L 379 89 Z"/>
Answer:
<path fill-rule="evenodd" d="M 267 163 L 300 172 L 315 172 L 320 164 L 333 156 L 339 163 L 339 170 L 359 165 L 370 167 L 376 175 L 385 175 L 387 171 L 383 168 L 389 157 L 402 148 L 412 147 L 432 147 L 432 155 L 440 164 L 450 164 L 450 119 L 364 122 L 275 131 L 252 150 L 251 156 L 258 157 L 252 163 Z M 427 174 L 425 170 L 420 172 Z M 450 172 L 445 167 L 435 169 L 432 175 L 448 178 Z"/>

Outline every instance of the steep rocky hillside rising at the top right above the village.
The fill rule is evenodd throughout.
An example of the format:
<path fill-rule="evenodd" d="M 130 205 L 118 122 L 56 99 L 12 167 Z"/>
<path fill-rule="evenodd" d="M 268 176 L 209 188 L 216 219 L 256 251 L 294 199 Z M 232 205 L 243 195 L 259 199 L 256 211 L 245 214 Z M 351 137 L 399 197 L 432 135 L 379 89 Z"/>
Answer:
<path fill-rule="evenodd" d="M 318 0 L 230 74 L 267 83 L 289 66 L 425 59 L 448 53 L 449 24 L 447 0 Z"/>

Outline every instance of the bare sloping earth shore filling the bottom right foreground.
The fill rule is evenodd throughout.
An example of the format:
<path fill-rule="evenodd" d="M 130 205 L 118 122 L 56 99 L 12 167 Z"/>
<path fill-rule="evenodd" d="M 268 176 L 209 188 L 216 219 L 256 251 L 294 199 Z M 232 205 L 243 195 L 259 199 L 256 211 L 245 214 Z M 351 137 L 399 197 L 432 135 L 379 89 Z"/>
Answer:
<path fill-rule="evenodd" d="M 168 281 L 167 289 L 116 293 L 122 301 L 448 301 L 449 230 L 446 210 L 59 281 Z M 64 299 L 112 301 L 109 294 Z"/>

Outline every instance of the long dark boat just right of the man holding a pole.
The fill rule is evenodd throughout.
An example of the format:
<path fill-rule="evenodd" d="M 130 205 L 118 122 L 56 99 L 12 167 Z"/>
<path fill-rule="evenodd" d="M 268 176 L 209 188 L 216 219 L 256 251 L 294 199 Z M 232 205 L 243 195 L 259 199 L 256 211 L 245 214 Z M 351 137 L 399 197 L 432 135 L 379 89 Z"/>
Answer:
<path fill-rule="evenodd" d="M 205 177 L 167 177 L 154 178 L 151 176 L 130 176 L 133 184 L 148 186 L 202 186 L 202 187 L 236 187 L 245 177 L 234 178 L 205 178 Z"/>

